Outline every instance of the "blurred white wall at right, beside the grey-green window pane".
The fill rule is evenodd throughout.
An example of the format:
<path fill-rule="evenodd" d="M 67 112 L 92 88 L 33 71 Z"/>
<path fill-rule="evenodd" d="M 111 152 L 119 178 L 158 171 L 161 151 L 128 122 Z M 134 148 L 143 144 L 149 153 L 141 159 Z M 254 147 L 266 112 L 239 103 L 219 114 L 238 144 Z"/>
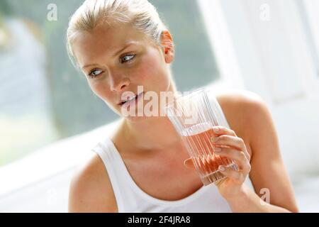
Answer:
<path fill-rule="evenodd" d="M 245 88 L 269 104 L 291 177 L 318 174 L 319 77 L 298 4 L 293 0 L 220 3 Z"/>

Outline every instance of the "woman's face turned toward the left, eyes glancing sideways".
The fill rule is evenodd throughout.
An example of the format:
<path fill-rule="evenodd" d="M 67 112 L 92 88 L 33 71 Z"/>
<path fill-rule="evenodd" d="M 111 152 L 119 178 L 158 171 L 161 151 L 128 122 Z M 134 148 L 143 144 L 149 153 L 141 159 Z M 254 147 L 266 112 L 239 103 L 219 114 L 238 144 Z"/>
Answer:
<path fill-rule="evenodd" d="M 169 33 L 164 36 L 163 42 L 172 43 Z M 100 23 L 90 33 L 79 33 L 72 48 L 91 90 L 120 116 L 123 92 L 138 94 L 143 86 L 144 94 L 159 96 L 172 89 L 168 64 L 174 50 L 160 48 L 129 25 Z"/>

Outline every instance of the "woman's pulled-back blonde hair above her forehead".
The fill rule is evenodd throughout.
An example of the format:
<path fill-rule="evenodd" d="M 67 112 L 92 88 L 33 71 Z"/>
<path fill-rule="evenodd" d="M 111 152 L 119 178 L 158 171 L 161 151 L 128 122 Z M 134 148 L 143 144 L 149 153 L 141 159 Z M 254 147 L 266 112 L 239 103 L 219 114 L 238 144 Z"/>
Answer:
<path fill-rule="evenodd" d="M 67 51 L 74 67 L 77 67 L 72 50 L 74 38 L 80 32 L 92 31 L 100 21 L 108 25 L 130 23 L 137 31 L 145 33 L 163 47 L 161 36 L 167 27 L 159 18 L 155 6 L 147 0 L 86 0 L 70 18 L 67 28 Z"/>

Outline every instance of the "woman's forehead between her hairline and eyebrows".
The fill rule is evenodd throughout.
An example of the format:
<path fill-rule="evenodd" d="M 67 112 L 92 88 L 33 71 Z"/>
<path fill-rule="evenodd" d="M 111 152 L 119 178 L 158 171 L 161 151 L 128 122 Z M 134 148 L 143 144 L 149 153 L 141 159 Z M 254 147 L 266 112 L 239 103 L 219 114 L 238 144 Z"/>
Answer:
<path fill-rule="evenodd" d="M 112 57 L 128 43 L 147 45 L 146 35 L 139 33 L 128 24 L 108 26 L 100 23 L 93 31 L 80 32 L 74 39 L 72 48 L 79 65 L 95 63 L 102 57 Z"/>

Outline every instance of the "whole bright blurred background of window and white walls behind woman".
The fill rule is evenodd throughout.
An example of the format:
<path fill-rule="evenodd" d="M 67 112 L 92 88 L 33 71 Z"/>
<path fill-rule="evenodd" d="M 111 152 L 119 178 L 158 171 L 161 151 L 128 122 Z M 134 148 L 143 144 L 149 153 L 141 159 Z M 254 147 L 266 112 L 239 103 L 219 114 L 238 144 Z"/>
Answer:
<path fill-rule="evenodd" d="M 177 47 L 179 91 L 262 96 L 299 208 L 319 212 L 319 1 L 150 2 Z M 67 211 L 70 177 L 118 120 L 67 57 L 81 3 L 0 1 L 0 211 Z"/>

